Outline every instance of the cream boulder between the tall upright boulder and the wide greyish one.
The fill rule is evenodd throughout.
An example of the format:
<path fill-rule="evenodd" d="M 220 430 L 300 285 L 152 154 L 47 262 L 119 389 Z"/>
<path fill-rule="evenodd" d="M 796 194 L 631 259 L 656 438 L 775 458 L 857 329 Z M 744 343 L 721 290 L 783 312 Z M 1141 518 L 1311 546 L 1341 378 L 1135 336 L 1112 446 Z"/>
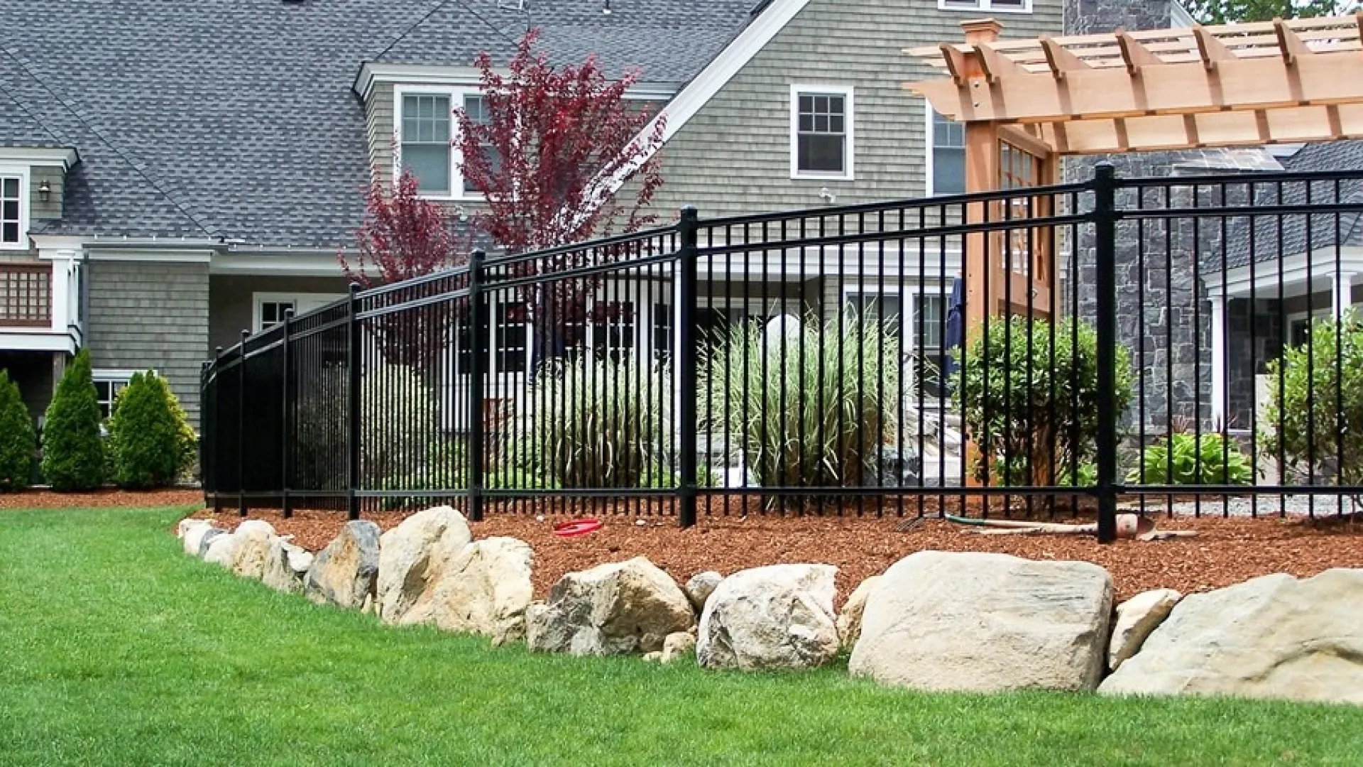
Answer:
<path fill-rule="evenodd" d="M 432 588 L 435 625 L 488 636 L 495 646 L 523 639 L 525 611 L 534 592 L 533 558 L 530 545 L 515 538 L 487 538 L 465 546 Z"/>

